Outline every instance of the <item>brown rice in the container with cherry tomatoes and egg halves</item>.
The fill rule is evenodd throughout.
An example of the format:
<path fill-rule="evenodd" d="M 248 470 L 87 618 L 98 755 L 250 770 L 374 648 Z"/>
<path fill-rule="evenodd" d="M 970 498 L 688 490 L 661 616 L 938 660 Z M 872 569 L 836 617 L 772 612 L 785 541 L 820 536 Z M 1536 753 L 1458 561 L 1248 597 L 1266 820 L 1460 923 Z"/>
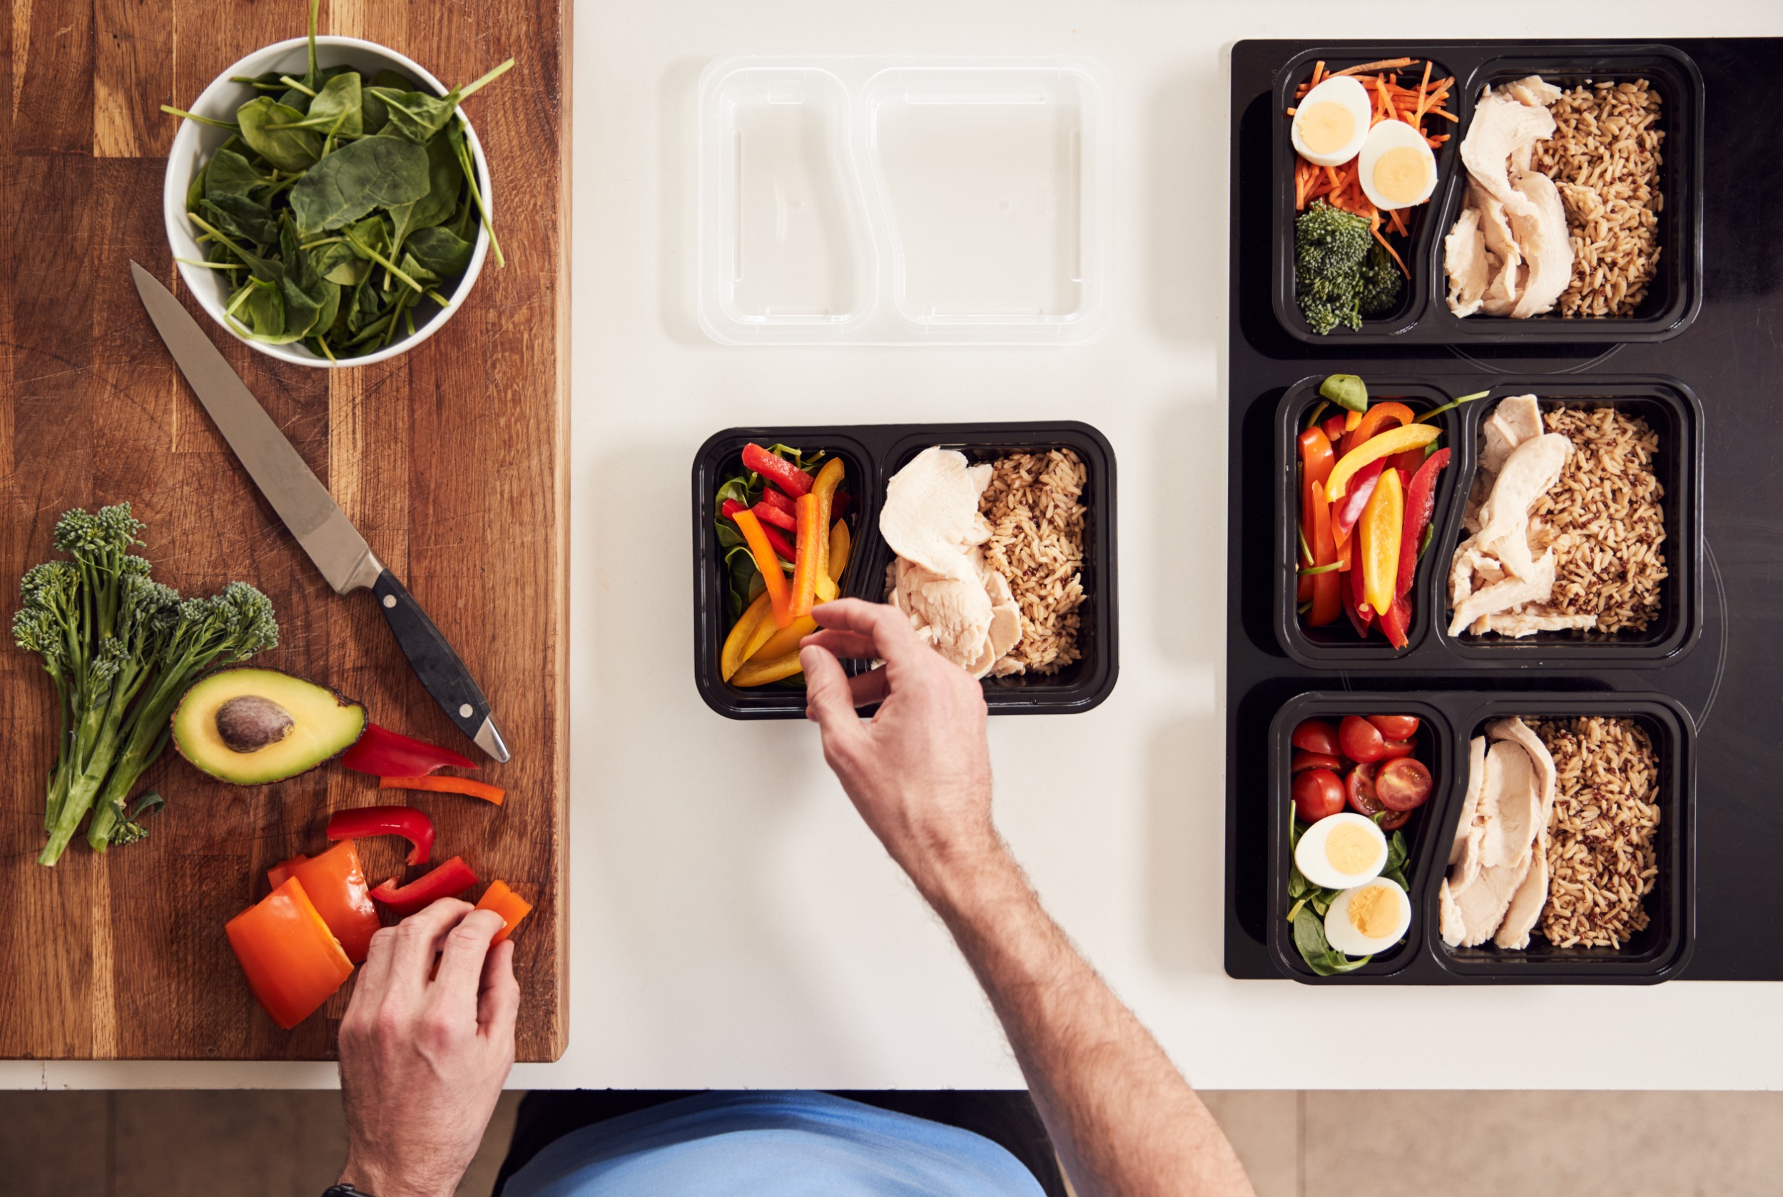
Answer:
<path fill-rule="evenodd" d="M 1658 878 L 1658 756 L 1630 719 L 1532 719 L 1560 772 L 1548 821 L 1548 904 L 1555 947 L 1621 947 L 1647 926 Z"/>

